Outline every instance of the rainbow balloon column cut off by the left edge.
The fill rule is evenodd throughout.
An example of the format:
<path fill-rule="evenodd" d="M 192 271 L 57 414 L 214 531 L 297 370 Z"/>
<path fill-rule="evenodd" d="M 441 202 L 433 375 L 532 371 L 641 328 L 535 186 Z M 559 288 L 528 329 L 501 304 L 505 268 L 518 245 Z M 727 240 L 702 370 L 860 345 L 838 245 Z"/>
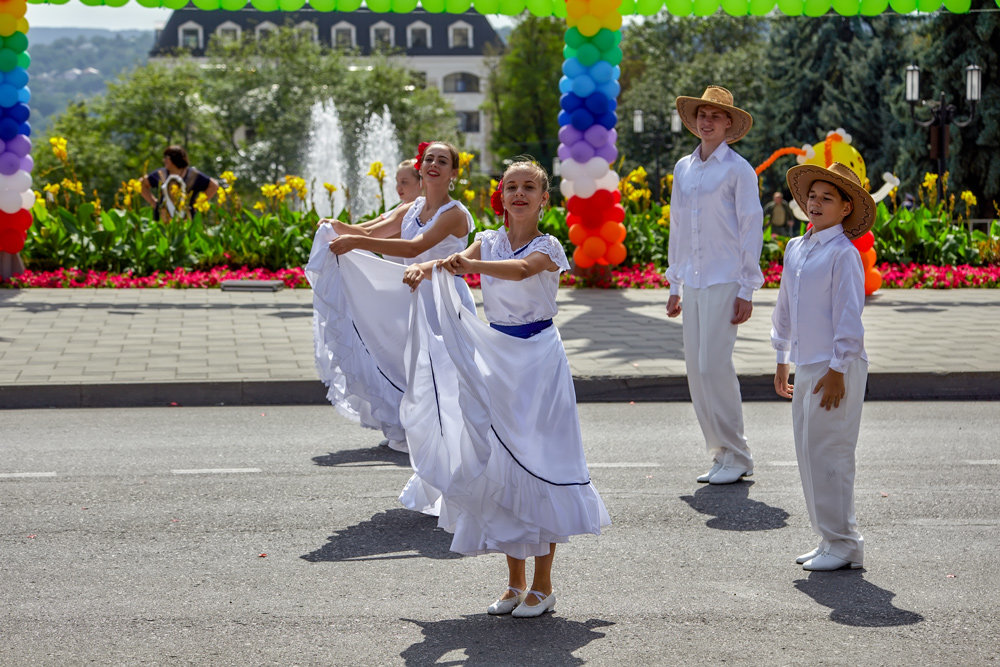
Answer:
<path fill-rule="evenodd" d="M 28 22 L 25 0 L 0 0 L 0 252 L 17 253 L 31 226 Z"/>

